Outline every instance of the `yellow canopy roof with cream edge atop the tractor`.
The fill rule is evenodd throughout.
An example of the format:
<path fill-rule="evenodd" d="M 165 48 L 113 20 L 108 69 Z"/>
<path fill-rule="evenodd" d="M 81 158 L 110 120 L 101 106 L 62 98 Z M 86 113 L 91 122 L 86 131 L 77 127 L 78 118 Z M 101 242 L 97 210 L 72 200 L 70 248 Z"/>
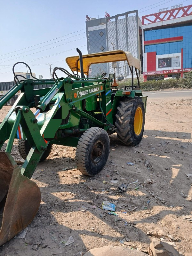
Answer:
<path fill-rule="evenodd" d="M 84 74 L 88 75 L 89 66 L 91 64 L 127 61 L 128 65 L 140 70 L 140 61 L 133 57 L 131 52 L 124 52 L 122 50 L 115 50 L 109 52 L 98 52 L 83 55 Z M 74 72 L 80 72 L 79 56 L 67 57 L 66 62 L 69 68 Z"/>

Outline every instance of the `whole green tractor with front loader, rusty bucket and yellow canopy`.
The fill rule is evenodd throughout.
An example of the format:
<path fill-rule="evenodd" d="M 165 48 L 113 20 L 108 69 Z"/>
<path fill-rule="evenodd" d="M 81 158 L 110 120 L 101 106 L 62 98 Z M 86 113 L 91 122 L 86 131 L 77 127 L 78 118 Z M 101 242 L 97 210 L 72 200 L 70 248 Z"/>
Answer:
<path fill-rule="evenodd" d="M 10 240 L 33 220 L 41 202 L 41 193 L 32 177 L 37 164 L 51 152 L 52 144 L 76 147 L 76 165 L 85 175 L 100 172 L 110 151 L 109 135 L 116 132 L 124 145 L 137 145 L 142 139 L 146 97 L 139 88 L 139 60 L 124 51 L 83 55 L 66 59 L 72 73 L 54 68 L 53 79 L 20 81 L 0 99 L 0 109 L 18 91 L 20 96 L 0 125 L 0 245 Z M 130 90 L 112 87 L 113 74 L 85 78 L 94 63 L 126 60 L 132 74 Z M 133 89 L 133 68 L 138 88 Z M 62 71 L 66 77 L 59 78 Z M 80 75 L 79 75 L 80 72 Z M 51 88 L 34 89 L 51 84 Z M 35 113 L 33 109 L 36 108 Z M 20 168 L 11 156 L 18 139 Z"/>

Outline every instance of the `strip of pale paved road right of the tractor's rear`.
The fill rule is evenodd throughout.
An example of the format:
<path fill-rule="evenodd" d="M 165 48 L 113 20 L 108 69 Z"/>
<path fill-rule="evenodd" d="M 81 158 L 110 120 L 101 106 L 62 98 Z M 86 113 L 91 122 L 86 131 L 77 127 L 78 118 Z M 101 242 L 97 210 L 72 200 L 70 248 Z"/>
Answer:
<path fill-rule="evenodd" d="M 148 99 L 161 99 L 161 98 L 192 98 L 192 90 L 182 91 L 166 91 L 166 92 L 143 92 L 144 96 L 148 96 Z"/>

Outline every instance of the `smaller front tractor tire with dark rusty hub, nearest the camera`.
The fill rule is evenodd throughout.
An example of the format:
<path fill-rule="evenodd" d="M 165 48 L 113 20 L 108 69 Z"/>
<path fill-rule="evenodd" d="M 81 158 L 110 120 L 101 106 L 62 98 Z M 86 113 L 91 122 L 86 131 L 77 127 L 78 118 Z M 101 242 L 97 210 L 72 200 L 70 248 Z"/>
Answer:
<path fill-rule="evenodd" d="M 79 171 L 94 176 L 105 166 L 110 151 L 108 133 L 102 128 L 87 129 L 81 136 L 76 148 L 76 165 Z"/>

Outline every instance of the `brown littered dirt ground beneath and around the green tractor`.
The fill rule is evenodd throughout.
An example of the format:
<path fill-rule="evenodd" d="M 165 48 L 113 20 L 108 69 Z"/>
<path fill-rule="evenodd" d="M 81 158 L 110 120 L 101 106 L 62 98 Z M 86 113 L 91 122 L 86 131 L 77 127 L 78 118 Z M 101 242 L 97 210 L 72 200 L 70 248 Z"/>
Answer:
<path fill-rule="evenodd" d="M 9 109 L 0 110 L 0 121 Z M 26 237 L 11 239 L 0 255 L 76 256 L 104 245 L 145 251 L 154 229 L 171 235 L 162 239 L 180 253 L 192 255 L 192 177 L 186 175 L 192 173 L 191 116 L 191 98 L 148 100 L 142 142 L 125 147 L 111 135 L 107 164 L 92 178 L 76 169 L 76 148 L 54 145 L 32 177 L 42 195 L 36 217 Z M 13 154 L 18 157 L 16 146 Z M 128 188 L 119 193 L 122 183 Z M 105 200 L 118 201 L 118 216 L 101 209 Z M 85 212 L 78 210 L 82 206 Z M 70 236 L 74 242 L 65 246 Z"/>

